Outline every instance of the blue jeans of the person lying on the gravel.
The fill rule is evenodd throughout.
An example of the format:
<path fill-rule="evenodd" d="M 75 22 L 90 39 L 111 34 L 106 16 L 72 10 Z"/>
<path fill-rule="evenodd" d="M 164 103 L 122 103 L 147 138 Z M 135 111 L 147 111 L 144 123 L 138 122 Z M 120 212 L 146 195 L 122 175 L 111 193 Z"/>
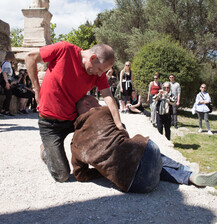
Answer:
<path fill-rule="evenodd" d="M 185 166 L 161 154 L 158 146 L 149 140 L 129 192 L 150 192 L 160 180 L 188 185 L 190 175 Z"/>

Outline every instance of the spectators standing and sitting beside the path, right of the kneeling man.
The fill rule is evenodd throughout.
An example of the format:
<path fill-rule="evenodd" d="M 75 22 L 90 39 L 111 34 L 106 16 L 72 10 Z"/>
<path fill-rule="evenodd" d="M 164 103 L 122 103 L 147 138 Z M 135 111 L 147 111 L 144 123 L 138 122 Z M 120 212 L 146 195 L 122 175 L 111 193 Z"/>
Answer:
<path fill-rule="evenodd" d="M 107 79 L 111 88 L 112 95 L 114 96 L 118 108 L 119 100 L 121 102 L 121 113 L 138 113 L 150 116 L 150 121 L 153 127 L 163 134 L 168 140 L 171 137 L 171 126 L 178 129 L 177 111 L 181 100 L 181 87 L 175 80 L 175 75 L 170 74 L 168 81 L 163 84 L 159 81 L 159 73 L 154 74 L 154 80 L 149 83 L 147 94 L 147 103 L 150 105 L 150 113 L 142 106 L 141 96 L 133 87 L 133 74 L 130 69 L 130 62 L 125 62 L 123 70 L 120 72 L 120 81 L 114 73 L 113 68 L 107 72 Z M 204 117 L 207 127 L 207 133 L 212 135 L 210 130 L 208 116 L 211 105 L 211 98 L 206 92 L 206 84 L 200 87 L 201 92 L 197 94 L 194 111 L 198 114 L 199 130 L 202 132 L 202 117 Z M 164 130 L 164 131 L 163 131 Z"/>

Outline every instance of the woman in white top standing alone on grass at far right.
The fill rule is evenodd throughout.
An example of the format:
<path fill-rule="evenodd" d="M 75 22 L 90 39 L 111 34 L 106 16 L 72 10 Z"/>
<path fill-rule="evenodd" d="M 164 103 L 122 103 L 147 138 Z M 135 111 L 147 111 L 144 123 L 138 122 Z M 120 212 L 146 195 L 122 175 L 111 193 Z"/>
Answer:
<path fill-rule="evenodd" d="M 211 103 L 211 98 L 209 96 L 209 93 L 206 92 L 206 84 L 203 83 L 200 86 L 200 90 L 201 91 L 197 94 L 196 101 L 195 101 L 195 105 L 196 105 L 195 110 L 197 112 L 198 120 L 199 120 L 198 132 L 199 133 L 202 132 L 202 117 L 204 117 L 206 128 L 208 130 L 208 134 L 213 135 L 213 133 L 210 130 L 210 126 L 209 126 L 209 111 L 210 111 L 210 109 L 207 106 L 209 103 Z"/>

